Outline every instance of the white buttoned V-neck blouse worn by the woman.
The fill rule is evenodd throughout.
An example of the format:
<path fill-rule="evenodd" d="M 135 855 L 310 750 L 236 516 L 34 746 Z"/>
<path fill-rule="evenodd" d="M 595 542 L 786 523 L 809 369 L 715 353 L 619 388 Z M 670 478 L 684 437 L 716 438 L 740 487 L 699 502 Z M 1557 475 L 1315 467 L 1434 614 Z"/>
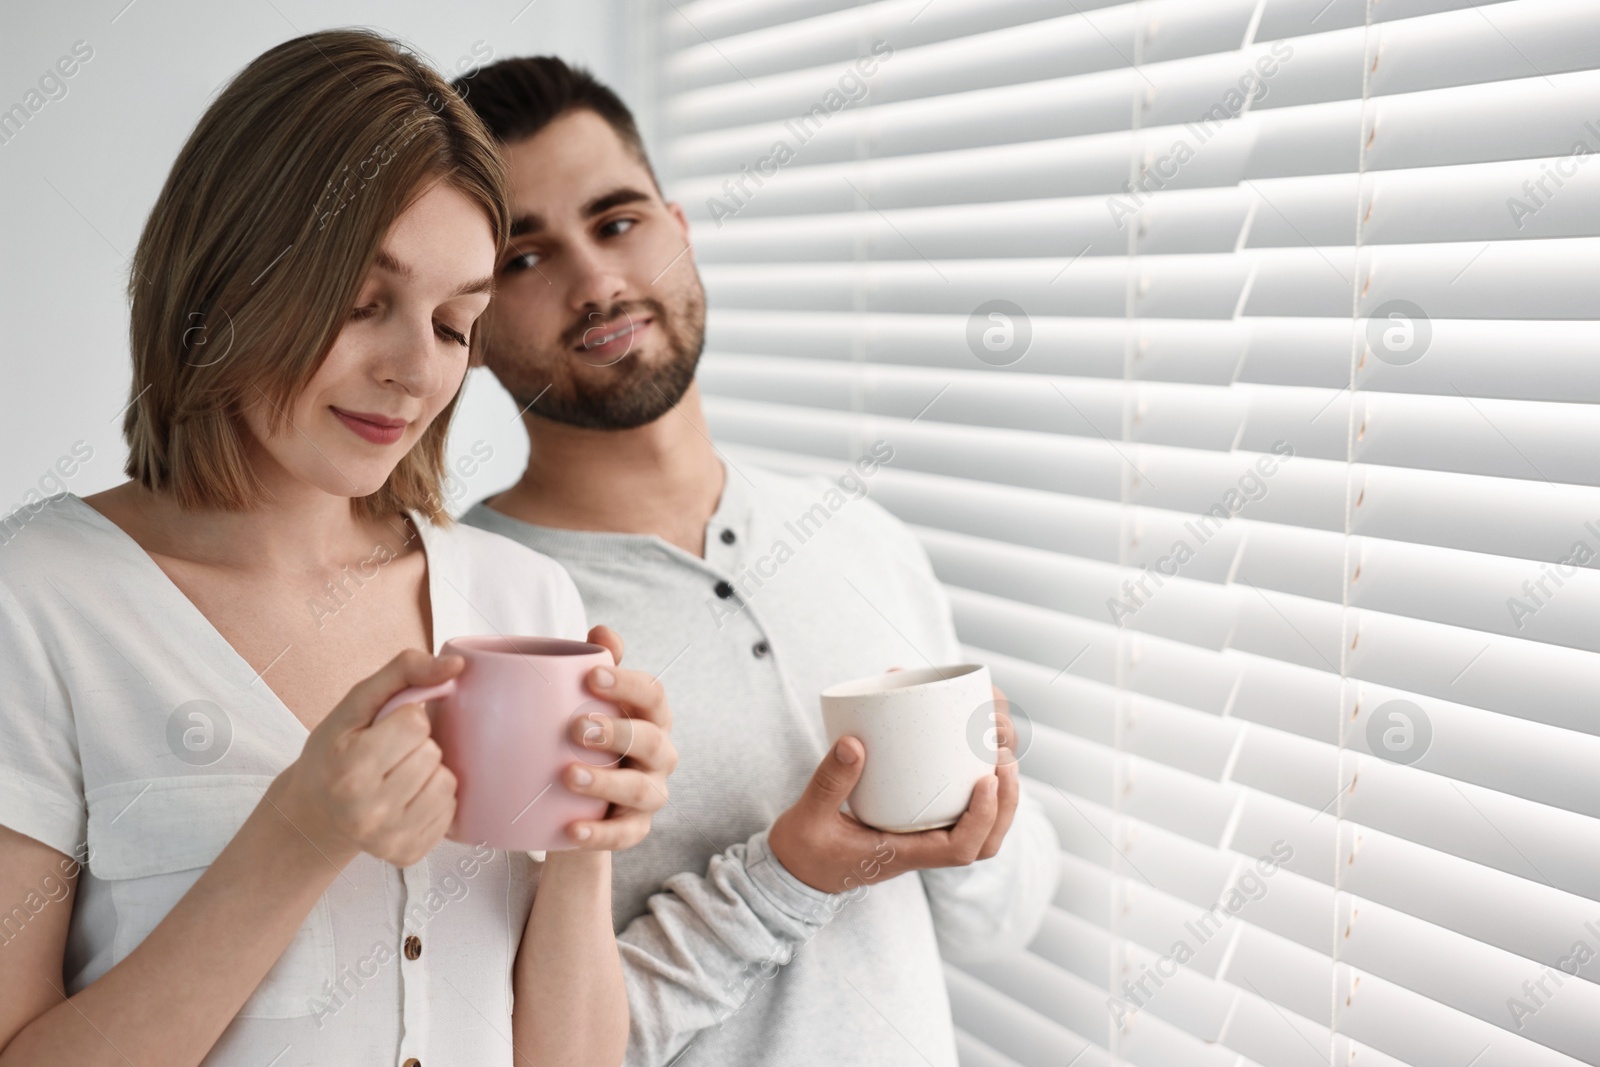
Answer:
<path fill-rule="evenodd" d="M 0 526 L 0 824 L 86 861 L 64 968 L 77 992 L 160 923 L 307 731 L 120 526 L 70 493 L 35 509 Z M 466 633 L 584 637 L 558 563 L 411 522 L 435 651 Z M 510 1067 L 536 883 L 526 853 L 446 840 L 405 869 L 363 853 L 205 1064 Z M 0 913 L 0 942 L 62 896 L 46 880 Z"/>

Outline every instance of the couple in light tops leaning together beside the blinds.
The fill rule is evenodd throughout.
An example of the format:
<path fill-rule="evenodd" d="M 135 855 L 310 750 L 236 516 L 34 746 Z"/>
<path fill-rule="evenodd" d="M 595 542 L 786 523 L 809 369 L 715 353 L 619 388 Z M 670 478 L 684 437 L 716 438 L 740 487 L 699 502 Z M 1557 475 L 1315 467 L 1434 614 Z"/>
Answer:
<path fill-rule="evenodd" d="M 949 606 L 869 501 L 734 587 L 837 490 L 706 437 L 688 224 L 610 90 L 280 45 L 130 294 L 131 482 L 0 549 L 0 1065 L 955 1064 L 941 950 L 1027 942 L 1053 830 L 1006 758 L 950 830 L 840 813 L 819 689 L 963 659 Z M 454 525 L 480 360 L 531 456 Z M 622 664 L 581 734 L 613 765 L 563 771 L 606 817 L 542 859 L 445 840 L 424 709 L 373 721 L 491 632 Z"/>

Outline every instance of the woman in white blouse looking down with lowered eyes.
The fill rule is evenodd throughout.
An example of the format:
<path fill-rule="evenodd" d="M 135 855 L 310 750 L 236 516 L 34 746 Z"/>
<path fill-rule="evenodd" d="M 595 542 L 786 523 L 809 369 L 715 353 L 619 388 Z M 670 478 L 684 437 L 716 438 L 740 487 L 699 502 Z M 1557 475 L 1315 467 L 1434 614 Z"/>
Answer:
<path fill-rule="evenodd" d="M 584 635 L 560 566 L 437 494 L 502 184 L 363 32 L 270 50 L 182 149 L 130 278 L 131 482 L 0 552 L 0 1065 L 621 1062 L 603 849 L 666 801 L 659 686 L 590 675 L 627 760 L 565 769 L 611 816 L 542 864 L 442 840 L 426 712 L 373 721 L 459 673 L 448 637 Z"/>

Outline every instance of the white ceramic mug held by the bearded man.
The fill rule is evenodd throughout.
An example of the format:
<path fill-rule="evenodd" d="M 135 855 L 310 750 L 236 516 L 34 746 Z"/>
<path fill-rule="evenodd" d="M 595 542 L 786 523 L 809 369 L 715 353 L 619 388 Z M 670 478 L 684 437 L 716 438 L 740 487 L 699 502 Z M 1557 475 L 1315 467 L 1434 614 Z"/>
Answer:
<path fill-rule="evenodd" d="M 867 750 L 850 813 L 890 833 L 952 825 L 973 787 L 995 773 L 994 747 L 973 742 L 974 721 L 987 728 L 992 712 L 982 664 L 891 670 L 824 689 L 829 744 L 848 734 Z"/>

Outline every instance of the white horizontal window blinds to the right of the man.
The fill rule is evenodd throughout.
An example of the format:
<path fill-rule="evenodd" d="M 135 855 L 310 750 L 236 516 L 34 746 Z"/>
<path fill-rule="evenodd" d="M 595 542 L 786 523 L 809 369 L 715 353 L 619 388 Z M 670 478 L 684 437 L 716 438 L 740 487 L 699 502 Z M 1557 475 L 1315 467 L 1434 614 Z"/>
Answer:
<path fill-rule="evenodd" d="M 1600 1064 L 1600 6 L 661 18 L 720 443 L 1034 723 L 965 1067 Z"/>

